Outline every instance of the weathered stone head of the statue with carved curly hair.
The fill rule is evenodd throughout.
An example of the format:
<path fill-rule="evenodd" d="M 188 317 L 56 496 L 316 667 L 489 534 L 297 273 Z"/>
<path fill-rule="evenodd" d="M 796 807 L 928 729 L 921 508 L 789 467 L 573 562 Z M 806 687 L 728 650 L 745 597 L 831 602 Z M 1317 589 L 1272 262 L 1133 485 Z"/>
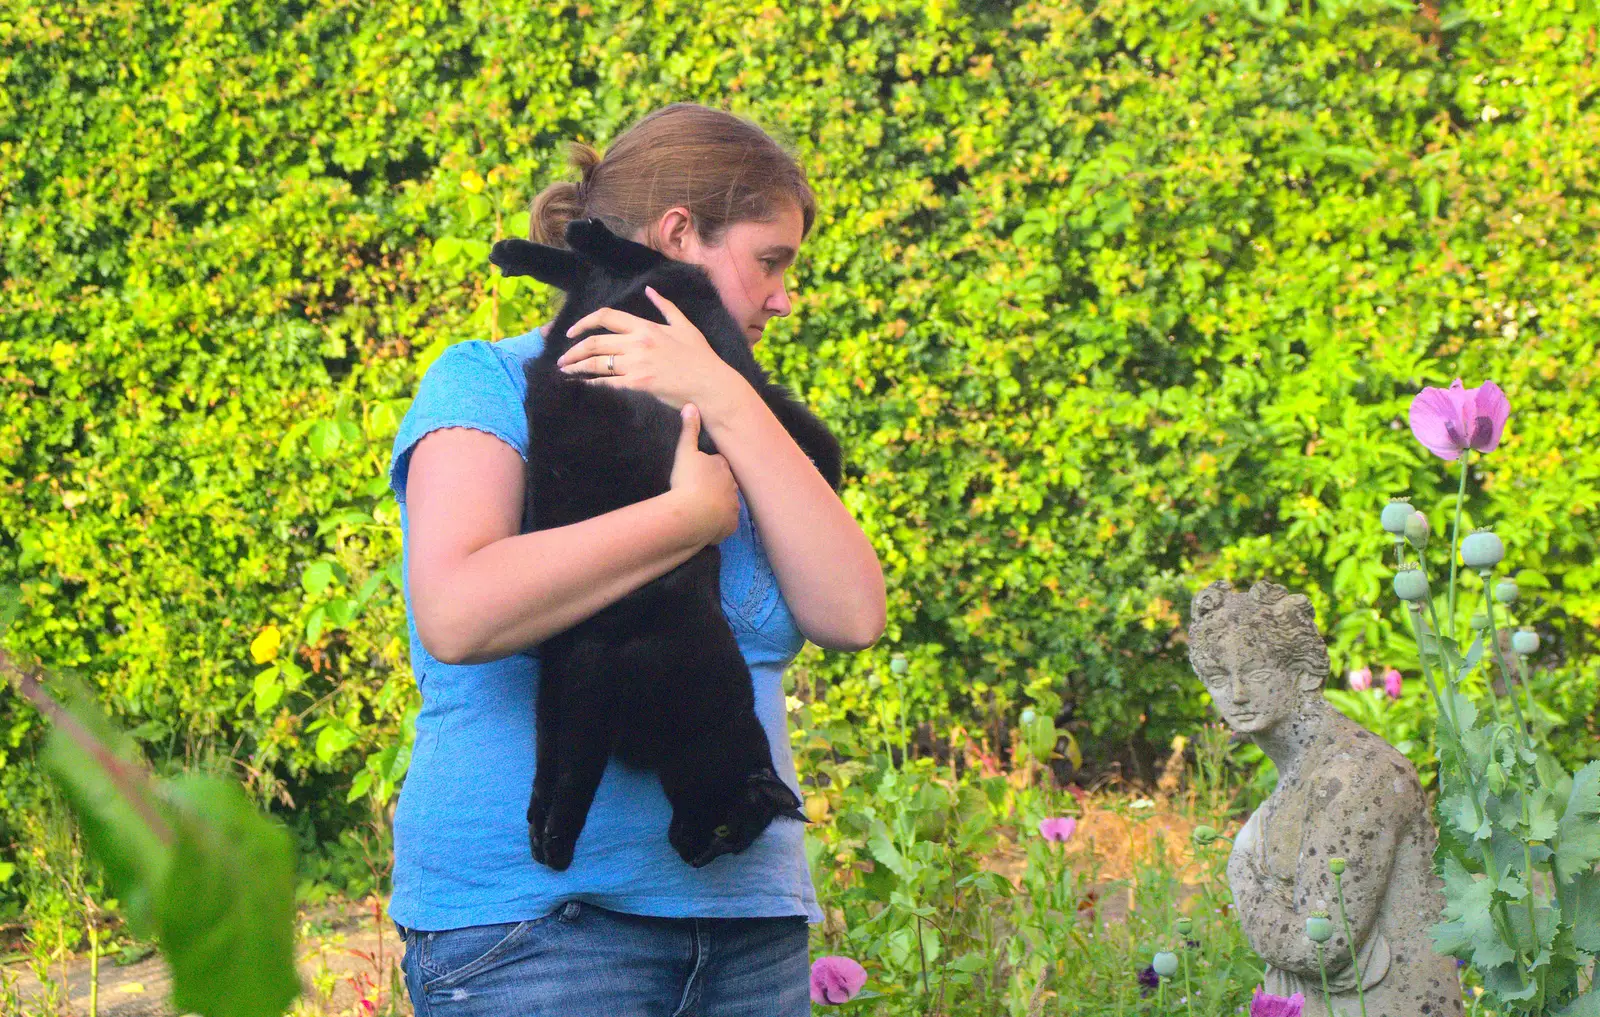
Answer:
<path fill-rule="evenodd" d="M 1195 593 L 1189 614 L 1189 664 L 1234 731 L 1270 731 L 1322 699 L 1328 646 L 1299 593 L 1272 582 L 1235 593 L 1221 580 Z"/>

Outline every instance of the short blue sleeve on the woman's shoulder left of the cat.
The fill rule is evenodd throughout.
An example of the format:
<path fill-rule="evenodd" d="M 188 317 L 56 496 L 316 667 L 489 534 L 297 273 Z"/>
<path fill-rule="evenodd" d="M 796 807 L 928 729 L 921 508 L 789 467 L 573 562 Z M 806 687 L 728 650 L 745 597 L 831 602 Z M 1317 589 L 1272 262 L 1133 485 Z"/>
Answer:
<path fill-rule="evenodd" d="M 494 435 L 528 457 L 528 417 L 523 411 L 522 371 L 493 344 L 482 339 L 458 342 L 422 376 L 416 398 L 395 433 L 389 459 L 389 488 L 405 502 L 411 449 L 435 430 L 470 427 Z"/>

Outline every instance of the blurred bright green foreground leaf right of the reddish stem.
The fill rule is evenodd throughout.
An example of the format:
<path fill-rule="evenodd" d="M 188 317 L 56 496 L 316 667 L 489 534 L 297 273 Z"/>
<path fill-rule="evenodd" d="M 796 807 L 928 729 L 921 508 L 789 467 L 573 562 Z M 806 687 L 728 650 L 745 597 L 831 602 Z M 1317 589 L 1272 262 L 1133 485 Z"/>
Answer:
<path fill-rule="evenodd" d="M 230 780 L 171 784 L 178 843 L 155 900 L 173 1004 L 205 1017 L 278 1017 L 299 995 L 294 849 Z"/>

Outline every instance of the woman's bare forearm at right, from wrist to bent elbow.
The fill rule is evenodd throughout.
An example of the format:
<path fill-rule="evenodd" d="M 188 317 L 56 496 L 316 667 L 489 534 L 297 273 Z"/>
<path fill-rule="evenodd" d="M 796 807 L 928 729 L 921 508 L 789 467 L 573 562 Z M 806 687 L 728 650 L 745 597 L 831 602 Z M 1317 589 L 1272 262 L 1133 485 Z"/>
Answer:
<path fill-rule="evenodd" d="M 728 374 L 706 433 L 739 481 L 795 624 L 827 649 L 872 646 L 886 614 L 877 552 L 760 395 Z"/>

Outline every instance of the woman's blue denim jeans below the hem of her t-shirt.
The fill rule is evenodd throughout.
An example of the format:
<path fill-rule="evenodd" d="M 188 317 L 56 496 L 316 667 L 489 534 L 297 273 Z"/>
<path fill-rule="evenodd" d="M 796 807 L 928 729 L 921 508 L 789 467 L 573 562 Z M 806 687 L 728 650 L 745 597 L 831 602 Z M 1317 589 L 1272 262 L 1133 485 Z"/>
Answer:
<path fill-rule="evenodd" d="M 802 1017 L 805 918 L 646 918 L 570 900 L 542 918 L 400 927 L 416 1017 Z"/>

